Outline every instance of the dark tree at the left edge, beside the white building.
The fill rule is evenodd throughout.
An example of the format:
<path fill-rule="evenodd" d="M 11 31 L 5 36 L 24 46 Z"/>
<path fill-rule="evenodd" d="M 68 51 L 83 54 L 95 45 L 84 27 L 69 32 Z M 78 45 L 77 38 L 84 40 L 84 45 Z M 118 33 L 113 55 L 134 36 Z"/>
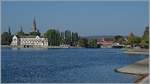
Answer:
<path fill-rule="evenodd" d="M 1 44 L 2 45 L 10 45 L 12 41 L 12 36 L 10 35 L 10 32 L 3 32 L 1 34 Z"/>

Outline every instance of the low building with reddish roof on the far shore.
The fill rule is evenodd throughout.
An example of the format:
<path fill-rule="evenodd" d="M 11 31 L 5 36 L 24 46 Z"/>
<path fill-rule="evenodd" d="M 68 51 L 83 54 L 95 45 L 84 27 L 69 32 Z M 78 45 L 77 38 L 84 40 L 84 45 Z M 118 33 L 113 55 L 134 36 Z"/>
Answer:
<path fill-rule="evenodd" d="M 97 44 L 101 45 L 102 48 L 112 48 L 113 40 L 108 38 L 102 38 L 97 41 Z"/>

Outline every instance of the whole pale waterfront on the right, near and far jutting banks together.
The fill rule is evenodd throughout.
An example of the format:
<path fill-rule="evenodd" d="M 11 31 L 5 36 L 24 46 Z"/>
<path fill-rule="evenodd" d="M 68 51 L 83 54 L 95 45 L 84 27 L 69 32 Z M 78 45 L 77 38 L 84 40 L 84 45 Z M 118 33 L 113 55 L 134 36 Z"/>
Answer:
<path fill-rule="evenodd" d="M 148 49 L 126 49 L 123 53 L 126 54 L 142 54 L 149 56 Z M 149 81 L 149 58 L 145 58 L 136 63 L 116 69 L 117 72 L 125 74 L 137 75 L 135 83 L 147 84 Z"/>

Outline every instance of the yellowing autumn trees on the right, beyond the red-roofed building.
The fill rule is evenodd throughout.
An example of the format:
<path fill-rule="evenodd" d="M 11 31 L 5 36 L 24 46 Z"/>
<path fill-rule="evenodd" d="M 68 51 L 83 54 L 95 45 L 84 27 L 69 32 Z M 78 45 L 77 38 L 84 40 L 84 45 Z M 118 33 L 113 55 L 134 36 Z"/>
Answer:
<path fill-rule="evenodd" d="M 114 42 L 130 45 L 131 47 L 149 48 L 149 27 L 145 27 L 142 36 L 136 36 L 133 33 L 130 33 L 127 37 L 117 35 L 114 37 Z"/>

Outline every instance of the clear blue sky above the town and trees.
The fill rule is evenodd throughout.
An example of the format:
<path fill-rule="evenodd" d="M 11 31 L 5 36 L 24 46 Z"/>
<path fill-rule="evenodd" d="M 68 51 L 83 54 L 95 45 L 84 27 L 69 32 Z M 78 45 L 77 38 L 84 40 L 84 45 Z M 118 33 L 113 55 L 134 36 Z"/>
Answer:
<path fill-rule="evenodd" d="M 15 34 L 32 31 L 33 19 L 44 33 L 71 30 L 81 36 L 142 35 L 148 26 L 148 2 L 142 1 L 3 1 L 2 28 Z"/>

